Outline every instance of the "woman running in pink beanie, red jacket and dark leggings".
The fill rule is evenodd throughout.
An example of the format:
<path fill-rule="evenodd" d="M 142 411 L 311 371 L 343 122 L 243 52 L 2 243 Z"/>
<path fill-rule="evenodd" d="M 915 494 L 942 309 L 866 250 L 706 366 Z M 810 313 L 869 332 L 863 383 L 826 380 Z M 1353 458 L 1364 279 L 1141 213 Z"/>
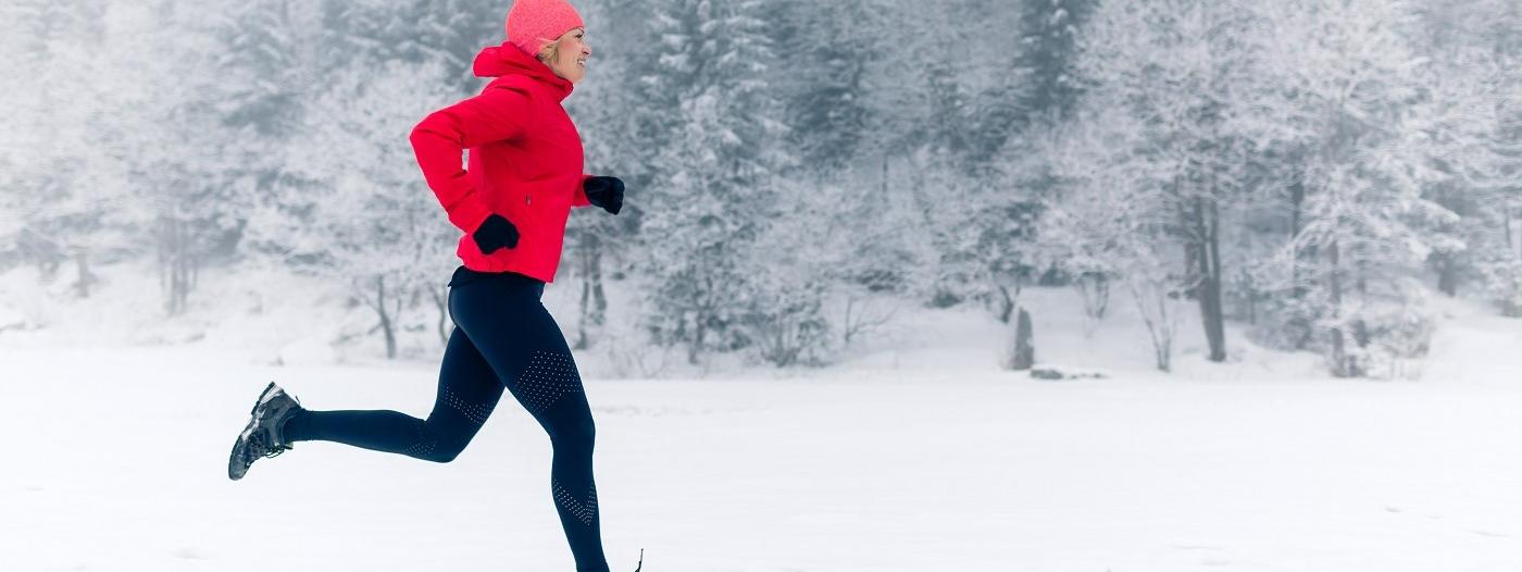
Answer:
<path fill-rule="evenodd" d="M 565 0 L 517 0 L 507 41 L 481 50 L 479 96 L 412 129 L 417 164 L 460 239 L 449 281 L 455 323 L 426 420 L 396 411 L 309 411 L 275 383 L 259 396 L 227 476 L 297 441 L 449 462 L 492 415 L 505 388 L 549 434 L 549 491 L 577 570 L 606 572 L 592 482 L 592 411 L 560 327 L 540 303 L 560 263 L 572 207 L 618 214 L 624 183 L 583 175 L 581 138 L 560 102 L 586 76 L 592 50 Z M 469 149 L 469 166 L 461 154 Z"/>

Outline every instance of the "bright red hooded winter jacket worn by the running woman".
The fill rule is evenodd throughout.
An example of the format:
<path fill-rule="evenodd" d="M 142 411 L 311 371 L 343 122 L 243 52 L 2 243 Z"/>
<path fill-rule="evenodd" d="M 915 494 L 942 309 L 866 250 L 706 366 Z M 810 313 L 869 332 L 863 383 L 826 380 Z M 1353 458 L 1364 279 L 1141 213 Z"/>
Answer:
<path fill-rule="evenodd" d="M 464 231 L 455 253 L 466 268 L 554 281 L 571 207 L 587 205 L 581 135 L 560 106 L 572 85 L 511 44 L 481 50 L 475 75 L 496 79 L 412 129 L 417 166 Z M 470 161 L 461 169 L 466 149 Z M 517 227 L 516 248 L 476 248 L 470 233 L 492 213 Z"/>

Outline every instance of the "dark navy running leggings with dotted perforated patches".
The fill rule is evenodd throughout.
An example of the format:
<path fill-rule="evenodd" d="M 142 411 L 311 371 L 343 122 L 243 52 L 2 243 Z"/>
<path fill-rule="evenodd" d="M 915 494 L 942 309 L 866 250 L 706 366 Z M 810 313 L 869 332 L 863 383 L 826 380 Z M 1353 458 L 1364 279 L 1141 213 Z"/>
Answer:
<path fill-rule="evenodd" d="M 539 301 L 545 283 L 521 274 L 461 266 L 449 281 L 449 315 L 457 326 L 426 420 L 396 411 L 303 411 L 286 423 L 286 440 L 449 462 L 492 415 L 505 386 L 549 432 L 549 490 L 577 570 L 607 570 L 592 482 L 592 411 L 571 348 Z"/>

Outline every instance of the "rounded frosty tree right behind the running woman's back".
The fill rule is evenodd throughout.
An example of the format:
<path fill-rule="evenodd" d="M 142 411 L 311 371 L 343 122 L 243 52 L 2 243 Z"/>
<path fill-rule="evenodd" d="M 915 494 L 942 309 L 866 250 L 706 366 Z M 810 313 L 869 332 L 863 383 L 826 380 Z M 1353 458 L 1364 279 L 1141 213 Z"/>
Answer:
<path fill-rule="evenodd" d="M 396 358 L 402 315 L 443 284 L 460 237 L 417 172 L 408 132 L 457 94 L 438 62 L 393 61 L 332 79 L 285 157 L 295 176 L 251 230 L 286 263 L 350 284 L 374 312 L 365 333 L 379 332 Z M 438 312 L 443 319 L 447 309 Z"/>

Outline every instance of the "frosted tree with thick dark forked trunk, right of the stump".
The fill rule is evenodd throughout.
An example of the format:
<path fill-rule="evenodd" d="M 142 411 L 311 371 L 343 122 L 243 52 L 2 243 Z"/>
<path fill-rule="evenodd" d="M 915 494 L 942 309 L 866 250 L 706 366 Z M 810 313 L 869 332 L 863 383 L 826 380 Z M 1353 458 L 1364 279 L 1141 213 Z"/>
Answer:
<path fill-rule="evenodd" d="M 1079 73 L 1091 105 L 1143 119 L 1140 149 L 1167 178 L 1169 236 L 1186 253 L 1189 292 L 1210 345 L 1225 359 L 1221 210 L 1240 189 L 1243 141 L 1260 137 L 1248 116 L 1257 50 L 1243 38 L 1253 14 L 1236 2 L 1108 0 L 1081 41 Z"/>

